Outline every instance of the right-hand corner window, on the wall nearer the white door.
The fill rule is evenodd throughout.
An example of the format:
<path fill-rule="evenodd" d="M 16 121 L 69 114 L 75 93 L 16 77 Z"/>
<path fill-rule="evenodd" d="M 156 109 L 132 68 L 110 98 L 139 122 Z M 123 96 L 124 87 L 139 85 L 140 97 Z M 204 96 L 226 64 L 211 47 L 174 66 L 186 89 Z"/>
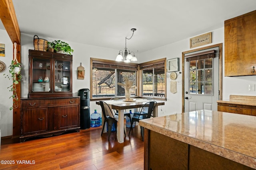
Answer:
<path fill-rule="evenodd" d="M 166 59 L 140 64 L 142 96 L 166 98 Z"/>

